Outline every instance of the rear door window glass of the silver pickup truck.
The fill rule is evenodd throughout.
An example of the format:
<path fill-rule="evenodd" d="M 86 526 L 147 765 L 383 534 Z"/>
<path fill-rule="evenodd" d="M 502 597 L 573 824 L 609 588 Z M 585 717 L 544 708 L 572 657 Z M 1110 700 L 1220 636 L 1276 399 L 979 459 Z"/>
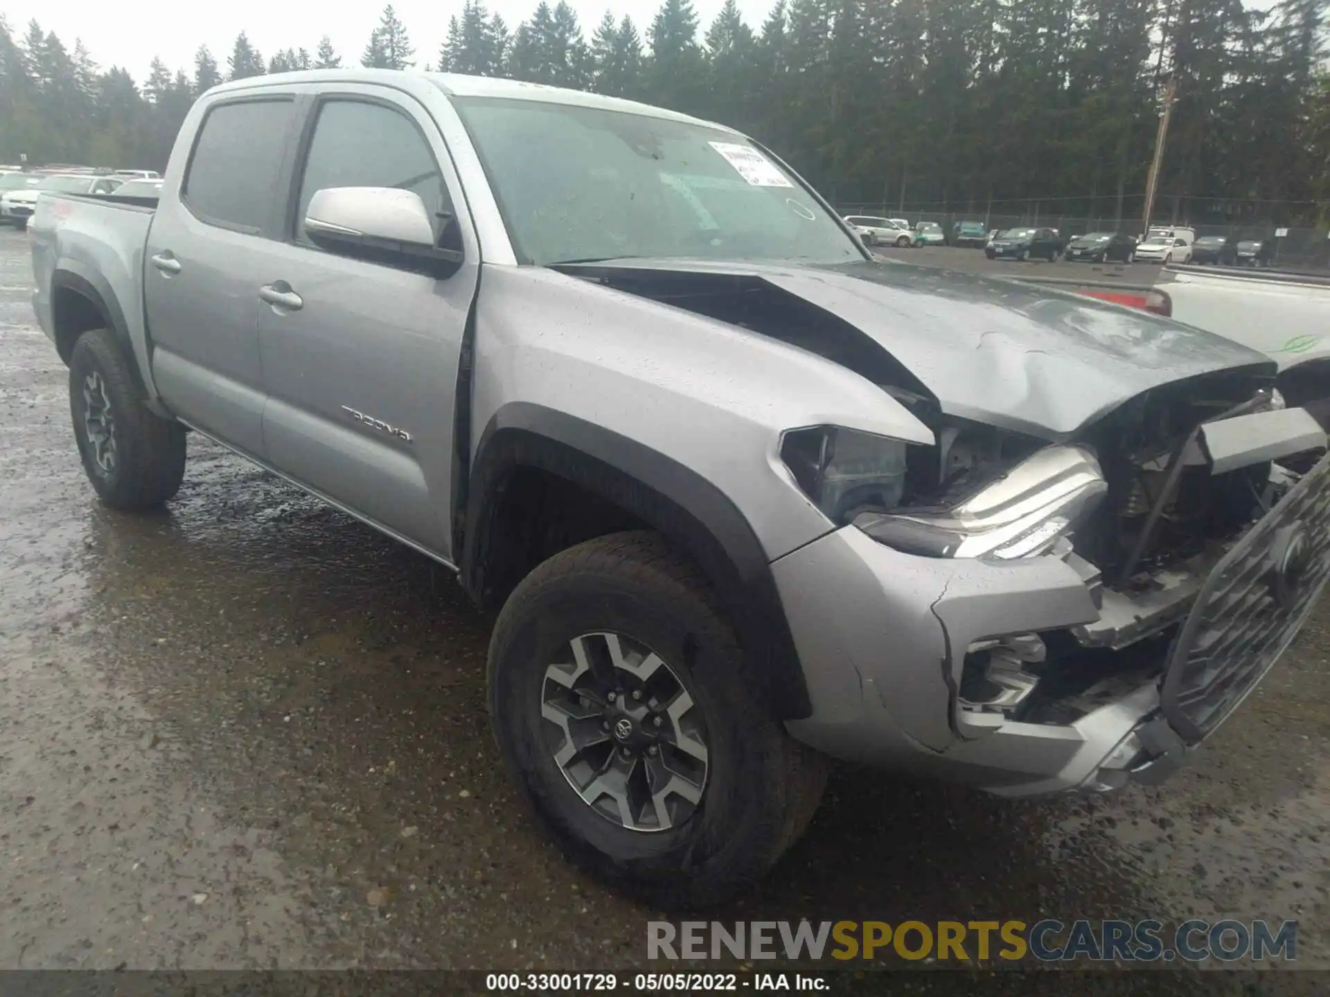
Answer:
<path fill-rule="evenodd" d="M 282 167 L 293 104 L 219 104 L 194 142 L 181 197 L 205 222 L 259 231 L 267 222 Z"/>

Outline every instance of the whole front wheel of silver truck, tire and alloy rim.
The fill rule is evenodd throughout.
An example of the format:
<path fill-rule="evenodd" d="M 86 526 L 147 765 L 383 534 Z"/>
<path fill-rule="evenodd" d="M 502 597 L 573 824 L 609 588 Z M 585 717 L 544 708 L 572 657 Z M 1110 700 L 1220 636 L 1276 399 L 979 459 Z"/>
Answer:
<path fill-rule="evenodd" d="M 803 832 L 826 760 L 785 732 L 697 569 L 654 533 L 564 550 L 489 645 L 504 762 L 569 855 L 650 901 L 733 895 Z"/>

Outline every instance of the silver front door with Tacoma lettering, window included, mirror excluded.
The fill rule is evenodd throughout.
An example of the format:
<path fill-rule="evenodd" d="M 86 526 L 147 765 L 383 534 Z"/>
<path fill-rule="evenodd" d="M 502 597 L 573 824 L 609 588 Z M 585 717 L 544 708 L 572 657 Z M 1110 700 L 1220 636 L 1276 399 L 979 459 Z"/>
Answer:
<path fill-rule="evenodd" d="M 315 247 L 302 225 L 310 198 L 348 186 L 419 194 L 440 245 L 466 254 L 462 269 L 438 279 L 406 261 Z M 247 292 L 251 302 L 265 295 L 258 335 L 269 460 L 443 557 L 451 554 L 454 400 L 477 255 L 448 150 L 423 106 L 398 90 L 350 84 L 311 102 L 283 239 L 254 254 Z"/>

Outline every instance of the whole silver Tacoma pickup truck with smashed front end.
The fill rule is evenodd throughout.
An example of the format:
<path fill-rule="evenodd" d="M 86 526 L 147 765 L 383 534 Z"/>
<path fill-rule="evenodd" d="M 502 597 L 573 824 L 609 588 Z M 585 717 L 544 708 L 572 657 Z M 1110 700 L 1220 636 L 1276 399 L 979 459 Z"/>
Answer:
<path fill-rule="evenodd" d="M 1330 573 L 1326 437 L 1258 352 L 871 259 L 775 154 L 585 93 L 283 73 L 160 202 L 39 201 L 101 498 L 186 429 L 455 568 L 567 851 L 714 900 L 827 759 L 1017 796 L 1172 771 Z"/>

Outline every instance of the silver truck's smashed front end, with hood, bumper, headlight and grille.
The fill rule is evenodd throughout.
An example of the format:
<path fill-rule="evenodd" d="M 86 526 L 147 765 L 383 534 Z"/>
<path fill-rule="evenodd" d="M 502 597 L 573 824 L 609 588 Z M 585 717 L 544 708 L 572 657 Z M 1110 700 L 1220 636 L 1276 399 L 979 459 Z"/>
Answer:
<path fill-rule="evenodd" d="M 1158 776 L 1330 577 L 1326 435 L 1234 343 L 942 271 L 577 275 L 818 354 L 932 432 L 781 439 L 837 528 L 773 564 L 813 701 L 787 727 L 831 755 L 1007 795 Z"/>

